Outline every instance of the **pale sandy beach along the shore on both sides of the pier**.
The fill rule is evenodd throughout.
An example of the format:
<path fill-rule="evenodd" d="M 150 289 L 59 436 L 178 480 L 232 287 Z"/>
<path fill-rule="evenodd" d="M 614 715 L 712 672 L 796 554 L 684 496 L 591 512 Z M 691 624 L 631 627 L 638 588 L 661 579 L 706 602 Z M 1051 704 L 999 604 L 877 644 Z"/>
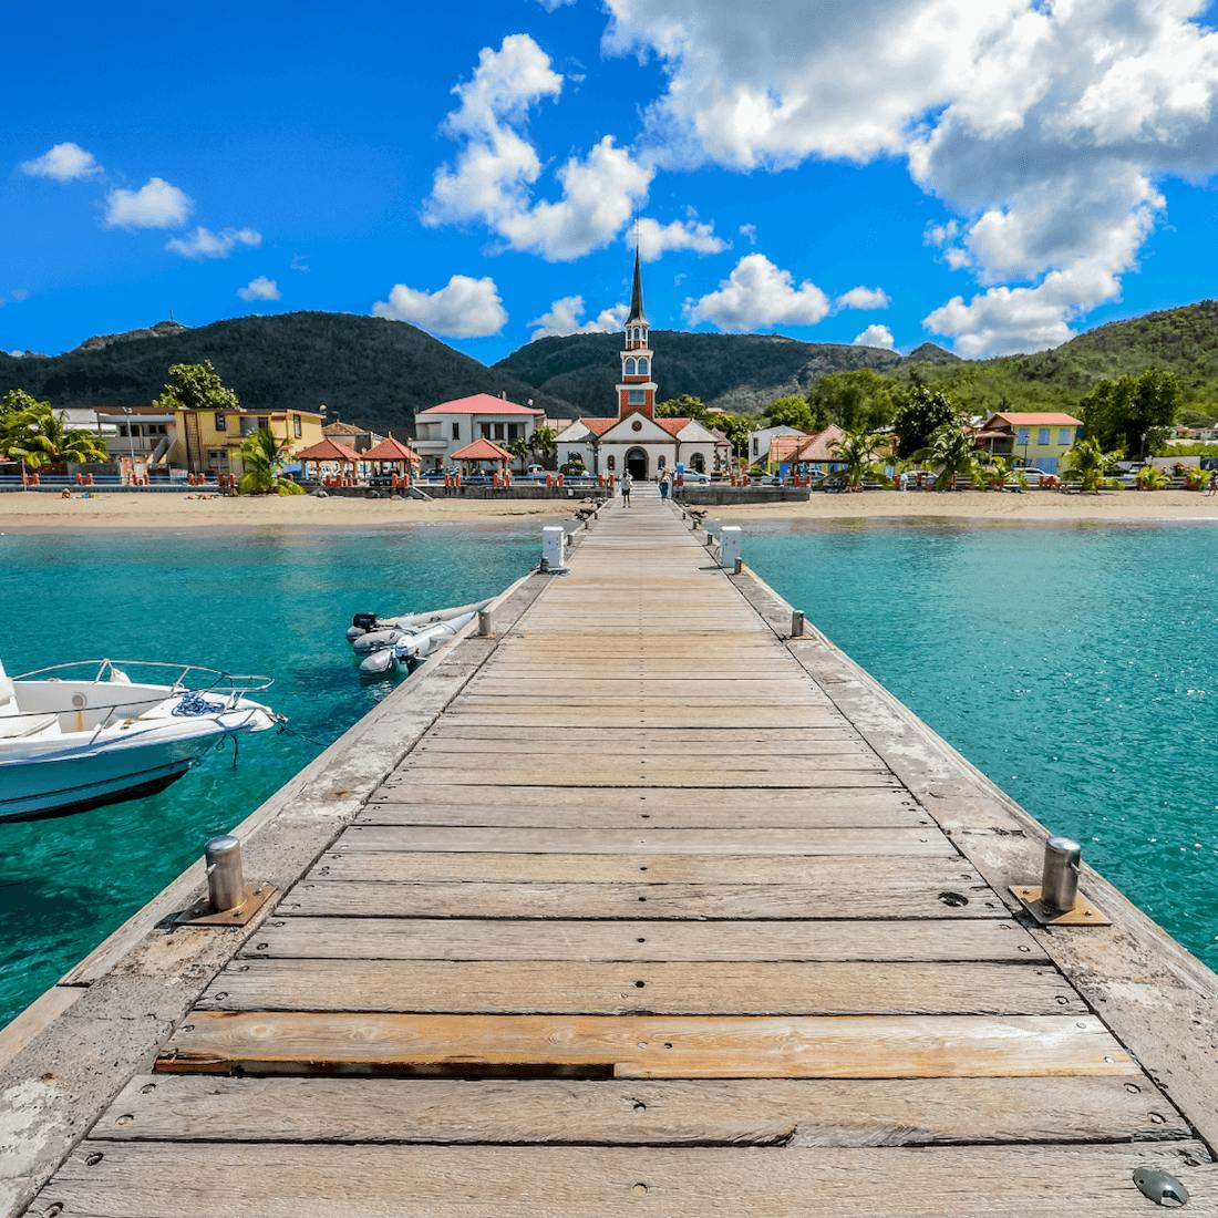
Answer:
<path fill-rule="evenodd" d="M 245 529 L 385 527 L 406 524 L 510 523 L 569 514 L 563 499 L 347 499 L 200 498 L 185 495 L 0 496 L 0 531 L 18 529 Z M 1189 491 L 1110 491 L 1102 495 L 960 491 L 865 491 L 814 495 L 808 503 L 742 503 L 711 509 L 713 516 L 766 521 L 842 519 L 954 519 L 983 521 L 1213 520 L 1218 498 Z"/>

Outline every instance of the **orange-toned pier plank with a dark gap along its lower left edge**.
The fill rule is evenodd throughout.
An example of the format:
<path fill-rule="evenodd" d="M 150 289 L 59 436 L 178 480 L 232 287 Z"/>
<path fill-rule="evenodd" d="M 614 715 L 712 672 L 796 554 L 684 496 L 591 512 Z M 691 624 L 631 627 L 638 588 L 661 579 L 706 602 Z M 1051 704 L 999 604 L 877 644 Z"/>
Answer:
<path fill-rule="evenodd" d="M 425 1066 L 630 1078 L 1130 1075 L 1093 1016 L 560 1016 L 199 1011 L 157 1069 Z"/>

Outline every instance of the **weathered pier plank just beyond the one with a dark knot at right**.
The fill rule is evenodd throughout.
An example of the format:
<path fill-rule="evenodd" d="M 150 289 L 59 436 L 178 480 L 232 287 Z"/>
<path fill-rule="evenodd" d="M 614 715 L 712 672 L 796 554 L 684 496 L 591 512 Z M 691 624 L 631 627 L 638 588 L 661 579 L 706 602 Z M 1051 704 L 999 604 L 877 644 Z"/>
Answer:
<path fill-rule="evenodd" d="M 368 828 L 364 833 L 391 833 Z M 409 829 L 402 832 L 409 833 Z M 850 832 L 868 832 L 866 829 Z M 917 831 L 915 831 L 917 832 Z M 854 859 L 842 862 L 842 857 Z M 952 857 L 789 854 L 442 854 L 438 851 L 357 850 L 339 839 L 309 872 L 318 879 L 375 879 L 385 883 L 435 881 L 508 883 L 641 883 L 648 884 L 814 884 L 834 893 L 840 915 L 861 890 L 885 884 L 946 887 L 976 882 L 968 864 Z M 861 882 L 865 877 L 865 882 Z M 935 888 L 939 892 L 939 888 Z"/>

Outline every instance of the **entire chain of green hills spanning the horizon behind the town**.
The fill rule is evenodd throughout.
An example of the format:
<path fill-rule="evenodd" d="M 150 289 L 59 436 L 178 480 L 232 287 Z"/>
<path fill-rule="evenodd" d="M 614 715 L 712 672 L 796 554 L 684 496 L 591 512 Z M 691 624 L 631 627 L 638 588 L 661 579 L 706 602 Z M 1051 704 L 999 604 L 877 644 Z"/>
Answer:
<path fill-rule="evenodd" d="M 653 330 L 652 337 L 661 398 L 689 393 L 730 410 L 764 409 L 851 368 L 916 376 L 956 393 L 973 413 L 1073 409 L 1101 378 L 1153 364 L 1177 373 L 1190 404 L 1218 413 L 1218 301 L 1113 322 L 1054 351 L 983 361 L 933 342 L 903 357 L 772 334 Z M 532 398 L 552 418 L 609 414 L 620 343 L 616 334 L 540 339 L 487 368 L 413 325 L 348 313 L 244 317 L 197 329 L 158 322 L 99 335 L 62 356 L 0 352 L 0 393 L 21 387 L 61 407 L 143 403 L 160 392 L 171 363 L 211 359 L 248 406 L 324 402 L 330 418 L 406 435 L 415 410 L 466 393 Z"/>

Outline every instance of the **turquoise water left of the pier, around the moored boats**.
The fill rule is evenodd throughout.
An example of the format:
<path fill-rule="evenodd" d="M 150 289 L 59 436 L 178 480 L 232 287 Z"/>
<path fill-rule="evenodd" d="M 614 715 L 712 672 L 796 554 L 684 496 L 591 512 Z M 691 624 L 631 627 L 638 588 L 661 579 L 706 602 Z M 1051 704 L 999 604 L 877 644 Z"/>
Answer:
<path fill-rule="evenodd" d="M 227 749 L 150 799 L 0 822 L 0 1026 L 389 692 L 358 678 L 352 613 L 493 596 L 535 561 L 540 527 L 0 536 L 10 672 L 105 655 L 263 672 L 309 738 L 248 737 L 235 771 Z"/>

